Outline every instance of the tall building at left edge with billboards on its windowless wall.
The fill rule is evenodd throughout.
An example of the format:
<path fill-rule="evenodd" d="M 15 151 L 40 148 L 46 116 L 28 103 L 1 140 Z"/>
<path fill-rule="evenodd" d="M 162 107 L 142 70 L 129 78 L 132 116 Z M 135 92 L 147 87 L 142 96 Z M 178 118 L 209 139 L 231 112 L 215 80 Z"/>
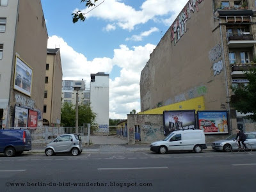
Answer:
<path fill-rule="evenodd" d="M 42 125 L 47 38 L 40 0 L 0 1 L 2 128 Z"/>

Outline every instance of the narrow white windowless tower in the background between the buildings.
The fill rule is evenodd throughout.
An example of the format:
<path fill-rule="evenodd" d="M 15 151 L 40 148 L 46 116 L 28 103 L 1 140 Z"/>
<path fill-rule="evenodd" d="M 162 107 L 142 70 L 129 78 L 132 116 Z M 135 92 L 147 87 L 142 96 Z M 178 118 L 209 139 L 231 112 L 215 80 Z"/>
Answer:
<path fill-rule="evenodd" d="M 109 131 L 109 74 L 91 74 L 90 102 L 92 111 L 97 114 L 95 122 L 98 132 Z"/>

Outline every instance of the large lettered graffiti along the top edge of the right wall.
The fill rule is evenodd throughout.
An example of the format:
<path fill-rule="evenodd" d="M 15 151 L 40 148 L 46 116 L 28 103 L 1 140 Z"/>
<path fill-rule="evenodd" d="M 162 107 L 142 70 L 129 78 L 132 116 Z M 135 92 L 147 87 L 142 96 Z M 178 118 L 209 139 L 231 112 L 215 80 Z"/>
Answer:
<path fill-rule="evenodd" d="M 187 32 L 187 21 L 191 19 L 191 12 L 198 12 L 198 5 L 204 0 L 189 0 L 186 6 L 183 8 L 180 15 L 173 22 L 171 26 L 171 42 L 174 41 L 174 45 L 179 42 L 180 38 Z"/>

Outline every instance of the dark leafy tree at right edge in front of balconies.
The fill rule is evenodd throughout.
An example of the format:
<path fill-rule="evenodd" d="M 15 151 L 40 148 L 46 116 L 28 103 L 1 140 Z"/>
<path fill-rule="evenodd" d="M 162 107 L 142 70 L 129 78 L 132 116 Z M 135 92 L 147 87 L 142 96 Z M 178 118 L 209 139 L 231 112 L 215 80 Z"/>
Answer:
<path fill-rule="evenodd" d="M 256 68 L 246 72 L 249 83 L 247 86 L 232 88 L 230 104 L 241 113 L 253 113 L 248 118 L 256 121 Z"/>

